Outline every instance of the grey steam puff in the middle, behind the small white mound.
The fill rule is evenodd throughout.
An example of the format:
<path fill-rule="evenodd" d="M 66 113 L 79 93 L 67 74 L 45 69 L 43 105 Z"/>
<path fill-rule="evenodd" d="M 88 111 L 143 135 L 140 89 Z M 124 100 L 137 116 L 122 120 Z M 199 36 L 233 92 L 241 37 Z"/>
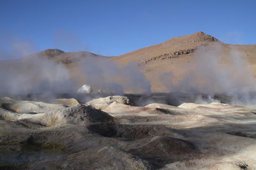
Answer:
<path fill-rule="evenodd" d="M 93 89 L 115 94 L 151 92 L 150 82 L 135 63 L 120 67 L 110 59 L 86 57 L 79 66 L 79 76 L 84 78 L 84 83 L 92 85 Z"/>

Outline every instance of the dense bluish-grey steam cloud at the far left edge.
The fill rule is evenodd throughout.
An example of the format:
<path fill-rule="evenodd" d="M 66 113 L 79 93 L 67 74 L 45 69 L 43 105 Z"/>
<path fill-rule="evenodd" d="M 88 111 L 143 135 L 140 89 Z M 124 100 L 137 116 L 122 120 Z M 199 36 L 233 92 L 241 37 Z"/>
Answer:
<path fill-rule="evenodd" d="M 4 61 L 0 67 L 1 94 L 56 94 L 74 92 L 68 70 L 61 64 L 35 57 Z"/>

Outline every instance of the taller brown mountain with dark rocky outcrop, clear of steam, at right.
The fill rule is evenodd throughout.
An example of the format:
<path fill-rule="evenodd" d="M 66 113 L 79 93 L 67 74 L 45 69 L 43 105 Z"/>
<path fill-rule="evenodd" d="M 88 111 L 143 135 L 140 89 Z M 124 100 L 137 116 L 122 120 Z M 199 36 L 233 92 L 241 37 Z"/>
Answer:
<path fill-rule="evenodd" d="M 219 50 L 218 53 L 215 52 L 216 49 Z M 198 53 L 200 50 L 204 50 L 204 53 Z M 164 85 L 164 73 L 172 74 L 172 81 L 180 81 L 189 74 L 191 69 L 195 69 L 197 55 L 212 55 L 210 57 L 221 55 L 222 64 L 228 65 L 231 62 L 230 55 L 232 54 L 230 53 L 234 50 L 239 52 L 239 56 L 242 59 L 246 59 L 249 62 L 250 69 L 256 75 L 256 45 L 225 44 L 204 32 L 195 32 L 188 36 L 172 38 L 163 43 L 141 48 L 111 59 L 121 65 L 137 62 L 142 67 L 147 79 L 150 80 L 152 91 L 163 92 L 170 90 L 168 89 L 169 87 Z"/>

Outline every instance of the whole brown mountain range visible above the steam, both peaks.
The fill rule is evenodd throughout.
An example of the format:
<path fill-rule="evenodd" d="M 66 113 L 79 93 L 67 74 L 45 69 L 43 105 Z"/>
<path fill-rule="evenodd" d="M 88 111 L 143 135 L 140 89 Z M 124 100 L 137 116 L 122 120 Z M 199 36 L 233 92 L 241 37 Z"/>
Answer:
<path fill-rule="evenodd" d="M 216 53 L 216 49 L 218 53 Z M 17 60 L 1 61 L 0 66 L 10 66 L 15 62 L 19 63 L 19 60 L 47 57 L 47 59 L 54 60 L 54 62 L 64 64 L 71 69 L 72 73 L 76 73 L 76 66 L 79 61 L 88 56 L 112 60 L 120 66 L 135 62 L 145 74 L 145 77 L 150 80 L 153 92 L 167 92 L 170 91 L 170 87 L 164 81 L 167 81 L 168 78 L 171 78 L 173 82 L 182 80 L 192 69 L 195 69 L 193 63 L 198 60 L 198 55 L 209 55 L 209 63 L 202 63 L 206 64 L 206 67 L 207 64 L 211 64 L 212 59 L 218 56 L 221 56 L 220 63 L 228 66 L 234 60 L 230 57 L 233 51 L 236 51 L 242 59 L 248 61 L 248 66 L 250 66 L 255 76 L 256 45 L 225 44 L 204 32 L 195 32 L 187 36 L 168 39 L 163 43 L 114 57 L 105 57 L 90 52 L 63 52 L 58 49 L 48 49 Z"/>

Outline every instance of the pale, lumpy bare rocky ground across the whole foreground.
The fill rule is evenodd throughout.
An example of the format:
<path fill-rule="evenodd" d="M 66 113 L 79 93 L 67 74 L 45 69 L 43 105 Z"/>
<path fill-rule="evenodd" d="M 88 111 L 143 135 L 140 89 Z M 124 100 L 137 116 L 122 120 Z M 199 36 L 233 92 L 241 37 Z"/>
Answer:
<path fill-rule="evenodd" d="M 0 169 L 255 169 L 256 110 L 0 99 Z"/>

